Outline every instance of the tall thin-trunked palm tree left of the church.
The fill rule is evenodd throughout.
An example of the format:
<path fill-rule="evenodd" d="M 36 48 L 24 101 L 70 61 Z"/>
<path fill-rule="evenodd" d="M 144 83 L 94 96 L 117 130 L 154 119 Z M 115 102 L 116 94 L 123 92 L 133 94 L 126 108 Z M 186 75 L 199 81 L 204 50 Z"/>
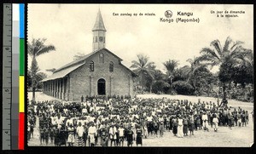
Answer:
<path fill-rule="evenodd" d="M 32 77 L 32 101 L 35 101 L 35 91 L 37 88 L 37 73 L 39 71 L 37 57 L 41 54 L 55 50 L 53 45 L 45 45 L 46 39 L 32 39 L 32 43 L 27 44 L 27 53 L 32 58 L 31 77 Z"/>

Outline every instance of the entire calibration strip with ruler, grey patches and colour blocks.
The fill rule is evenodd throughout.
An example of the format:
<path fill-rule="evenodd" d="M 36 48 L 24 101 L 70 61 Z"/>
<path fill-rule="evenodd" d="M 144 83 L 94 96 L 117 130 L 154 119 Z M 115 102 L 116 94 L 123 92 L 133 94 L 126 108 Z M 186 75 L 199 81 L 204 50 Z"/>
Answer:
<path fill-rule="evenodd" d="M 3 150 L 24 150 L 25 4 L 3 4 Z"/>

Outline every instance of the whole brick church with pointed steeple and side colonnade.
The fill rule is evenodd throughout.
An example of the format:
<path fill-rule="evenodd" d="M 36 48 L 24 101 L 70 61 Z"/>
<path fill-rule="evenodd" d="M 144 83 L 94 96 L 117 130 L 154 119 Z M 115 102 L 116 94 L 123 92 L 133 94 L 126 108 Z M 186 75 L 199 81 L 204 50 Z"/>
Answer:
<path fill-rule="evenodd" d="M 106 28 L 98 11 L 93 32 L 93 51 L 55 70 L 45 78 L 43 92 L 61 100 L 80 100 L 81 96 L 133 96 L 136 74 L 124 66 L 107 48 Z"/>

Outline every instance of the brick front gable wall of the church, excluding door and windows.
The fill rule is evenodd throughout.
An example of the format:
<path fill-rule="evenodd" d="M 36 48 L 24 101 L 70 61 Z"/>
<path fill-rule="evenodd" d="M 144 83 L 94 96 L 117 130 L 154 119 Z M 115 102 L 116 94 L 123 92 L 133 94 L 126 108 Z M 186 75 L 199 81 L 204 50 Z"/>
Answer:
<path fill-rule="evenodd" d="M 100 62 L 100 53 L 104 54 L 104 63 Z M 91 60 L 94 61 L 94 71 L 90 71 Z M 113 62 L 113 72 L 109 72 L 110 61 Z M 69 100 L 80 100 L 82 95 L 98 95 L 97 82 L 100 78 L 106 81 L 106 95 L 133 95 L 131 72 L 120 66 L 119 60 L 104 49 L 88 58 L 84 66 L 71 72 L 69 77 Z"/>

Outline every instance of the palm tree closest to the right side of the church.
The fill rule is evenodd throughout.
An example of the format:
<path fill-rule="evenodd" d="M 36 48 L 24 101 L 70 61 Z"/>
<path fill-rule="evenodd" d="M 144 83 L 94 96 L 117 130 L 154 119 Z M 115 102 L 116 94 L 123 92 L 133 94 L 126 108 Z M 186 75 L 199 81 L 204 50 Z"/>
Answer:
<path fill-rule="evenodd" d="M 152 84 L 154 82 L 154 62 L 149 62 L 148 56 L 144 54 L 137 54 L 137 59 L 138 61 L 131 61 L 131 68 L 133 68 L 132 71 L 137 73 L 137 76 L 139 77 L 140 80 L 140 84 L 143 87 L 143 91 L 144 85 L 147 83 L 147 81 L 150 83 L 149 91 L 151 93 Z"/>

